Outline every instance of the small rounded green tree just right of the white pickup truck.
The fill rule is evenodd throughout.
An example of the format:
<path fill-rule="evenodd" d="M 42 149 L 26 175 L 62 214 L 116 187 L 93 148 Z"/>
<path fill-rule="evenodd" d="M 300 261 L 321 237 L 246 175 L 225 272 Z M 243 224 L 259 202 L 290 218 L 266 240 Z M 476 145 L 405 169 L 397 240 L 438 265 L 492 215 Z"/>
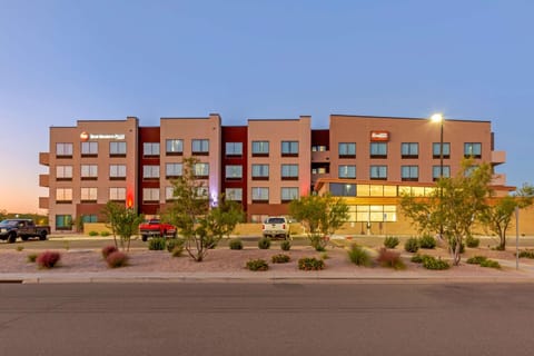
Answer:
<path fill-rule="evenodd" d="M 310 245 L 324 251 L 328 243 L 327 235 L 333 234 L 348 219 L 348 206 L 342 198 L 332 195 L 309 195 L 293 200 L 289 211 L 301 221 Z"/>

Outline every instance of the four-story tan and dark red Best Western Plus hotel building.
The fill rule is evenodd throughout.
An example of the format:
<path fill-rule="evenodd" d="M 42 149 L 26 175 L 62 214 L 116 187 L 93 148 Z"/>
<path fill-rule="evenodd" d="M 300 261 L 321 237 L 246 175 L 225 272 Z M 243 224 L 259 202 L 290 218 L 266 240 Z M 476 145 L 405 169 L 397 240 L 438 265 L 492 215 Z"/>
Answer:
<path fill-rule="evenodd" d="M 49 197 L 39 207 L 55 231 L 73 229 L 76 219 L 101 220 L 108 200 L 158 215 L 187 157 L 198 159 L 195 174 L 211 204 L 224 194 L 249 221 L 287 215 L 290 200 L 313 190 L 330 191 L 347 199 L 353 226 L 376 233 L 382 222 L 405 225 L 396 205 L 403 191 L 427 194 L 442 175 L 458 171 L 462 158 L 505 162 L 490 121 L 332 115 L 328 129 L 312 129 L 308 116 L 237 127 L 221 126 L 217 113 L 161 118 L 159 127 L 140 127 L 132 117 L 79 120 L 50 128 L 50 151 L 40 154 L 49 174 L 39 180 Z M 505 180 L 495 174 L 492 185 L 504 194 L 512 189 Z"/>

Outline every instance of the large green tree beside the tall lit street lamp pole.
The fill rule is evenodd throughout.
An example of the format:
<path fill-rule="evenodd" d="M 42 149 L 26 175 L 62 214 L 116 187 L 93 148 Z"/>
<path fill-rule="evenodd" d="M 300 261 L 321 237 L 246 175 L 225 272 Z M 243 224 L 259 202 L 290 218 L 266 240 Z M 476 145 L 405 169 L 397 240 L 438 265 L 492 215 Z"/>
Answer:
<path fill-rule="evenodd" d="M 473 160 L 464 159 L 458 174 L 441 178 L 429 196 L 403 195 L 400 208 L 418 230 L 438 233 L 443 229 L 453 264 L 457 266 L 464 238 L 471 235 L 473 224 L 486 209 L 491 178 L 490 165 L 473 166 Z"/>

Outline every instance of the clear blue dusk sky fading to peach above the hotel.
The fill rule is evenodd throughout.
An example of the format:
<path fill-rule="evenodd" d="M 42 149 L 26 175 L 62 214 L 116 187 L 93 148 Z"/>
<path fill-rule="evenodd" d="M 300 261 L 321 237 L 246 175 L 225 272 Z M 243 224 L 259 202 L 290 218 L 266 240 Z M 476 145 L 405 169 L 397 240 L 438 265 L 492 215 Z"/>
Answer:
<path fill-rule="evenodd" d="M 497 172 L 533 184 L 533 13 L 528 0 L 0 0 L 0 210 L 48 196 L 50 126 L 127 116 L 327 128 L 330 113 L 438 111 L 491 120 Z"/>

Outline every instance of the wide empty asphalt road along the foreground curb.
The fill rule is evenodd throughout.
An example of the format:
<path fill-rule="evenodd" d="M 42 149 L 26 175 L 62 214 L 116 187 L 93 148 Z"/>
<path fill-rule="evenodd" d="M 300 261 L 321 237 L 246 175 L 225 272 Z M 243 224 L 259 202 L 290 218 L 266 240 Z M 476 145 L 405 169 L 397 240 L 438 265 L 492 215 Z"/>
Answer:
<path fill-rule="evenodd" d="M 0 355 L 533 355 L 534 285 L 0 284 Z"/>

